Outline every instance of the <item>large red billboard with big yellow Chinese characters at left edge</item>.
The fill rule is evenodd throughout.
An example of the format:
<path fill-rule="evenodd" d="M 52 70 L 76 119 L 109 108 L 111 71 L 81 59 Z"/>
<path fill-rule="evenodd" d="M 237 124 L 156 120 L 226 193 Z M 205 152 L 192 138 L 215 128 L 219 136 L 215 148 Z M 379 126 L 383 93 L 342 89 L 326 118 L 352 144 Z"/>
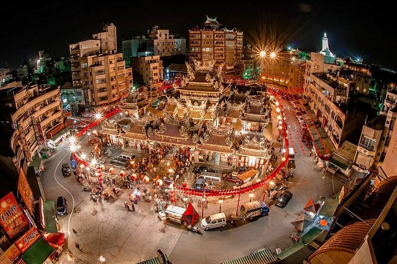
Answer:
<path fill-rule="evenodd" d="M 29 224 L 12 192 L 0 200 L 0 224 L 10 238 L 13 238 Z"/>

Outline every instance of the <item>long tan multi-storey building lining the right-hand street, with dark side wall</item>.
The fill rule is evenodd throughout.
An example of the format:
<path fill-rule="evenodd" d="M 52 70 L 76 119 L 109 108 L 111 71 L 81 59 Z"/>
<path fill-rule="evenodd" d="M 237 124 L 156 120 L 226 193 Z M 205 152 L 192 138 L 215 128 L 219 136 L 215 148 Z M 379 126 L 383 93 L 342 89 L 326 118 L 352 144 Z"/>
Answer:
<path fill-rule="evenodd" d="M 303 98 L 315 112 L 337 149 L 344 140 L 357 141 L 371 107 L 354 97 L 359 75 L 340 66 L 324 63 L 324 55 L 312 53 L 306 61 Z"/>

